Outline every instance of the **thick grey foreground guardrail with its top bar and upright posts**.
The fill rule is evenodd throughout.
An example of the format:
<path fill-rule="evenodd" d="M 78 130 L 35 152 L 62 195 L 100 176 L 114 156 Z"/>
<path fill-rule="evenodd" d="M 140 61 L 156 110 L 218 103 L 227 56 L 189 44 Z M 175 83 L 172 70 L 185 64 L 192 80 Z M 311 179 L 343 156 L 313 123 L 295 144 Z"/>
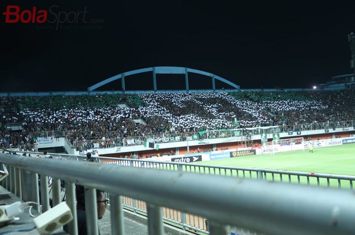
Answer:
<path fill-rule="evenodd" d="M 8 154 L 0 154 L 0 162 L 10 170 L 2 184 L 21 198 L 39 201 L 41 175 L 44 211 L 49 209 L 48 176 L 54 178 L 54 205 L 59 203 L 59 179 L 66 181 L 66 202 L 75 218 L 75 183 L 87 187 L 89 234 L 98 234 L 96 189 L 111 195 L 113 234 L 124 234 L 122 196 L 146 202 L 150 235 L 164 234 L 163 207 L 207 218 L 211 235 L 227 234 L 228 225 L 274 235 L 355 233 L 355 198 L 348 190 Z M 32 182 L 26 190 L 24 179 Z M 77 220 L 68 228 L 77 234 Z"/>

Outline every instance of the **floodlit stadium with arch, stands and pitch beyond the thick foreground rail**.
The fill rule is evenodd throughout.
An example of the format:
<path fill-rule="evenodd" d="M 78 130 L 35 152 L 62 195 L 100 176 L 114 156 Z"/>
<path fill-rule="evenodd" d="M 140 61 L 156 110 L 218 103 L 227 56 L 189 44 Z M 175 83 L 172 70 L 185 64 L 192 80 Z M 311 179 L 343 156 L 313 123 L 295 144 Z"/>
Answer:
<path fill-rule="evenodd" d="M 153 72 L 155 88 L 156 73 L 185 72 L 186 90 L 94 91 L 115 79 L 122 79 L 124 87 L 128 75 L 147 71 Z M 211 79 L 212 89 L 189 90 L 191 72 Z M 80 162 L 89 153 L 105 165 L 352 189 L 351 76 L 316 89 L 243 90 L 204 71 L 153 67 L 105 79 L 88 91 L 2 93 L 1 147 L 4 153 L 32 158 Z M 216 89 L 215 79 L 235 89 Z M 9 168 L 11 175 L 14 168 Z M 12 180 L 3 185 L 19 194 Z M 41 196 L 49 202 L 48 195 Z M 131 213 L 147 216 L 143 200 L 123 197 L 122 202 Z M 162 213 L 166 224 L 208 233 L 202 216 L 168 207 Z M 231 227 L 230 232 L 251 231 Z"/>

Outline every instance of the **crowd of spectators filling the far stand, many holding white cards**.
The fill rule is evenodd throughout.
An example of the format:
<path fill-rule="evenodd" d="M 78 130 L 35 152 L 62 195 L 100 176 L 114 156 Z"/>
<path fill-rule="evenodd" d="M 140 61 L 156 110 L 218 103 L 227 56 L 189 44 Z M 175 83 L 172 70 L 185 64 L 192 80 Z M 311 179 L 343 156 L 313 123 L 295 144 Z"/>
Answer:
<path fill-rule="evenodd" d="M 3 97 L 0 106 L 17 112 L 0 114 L 0 146 L 33 144 L 29 133 L 44 130 L 65 131 L 73 145 L 102 139 L 117 146 L 111 139 L 275 125 L 310 129 L 328 121 L 336 127 L 354 119 L 354 98 L 352 90 Z M 15 122 L 25 131 L 5 127 Z"/>

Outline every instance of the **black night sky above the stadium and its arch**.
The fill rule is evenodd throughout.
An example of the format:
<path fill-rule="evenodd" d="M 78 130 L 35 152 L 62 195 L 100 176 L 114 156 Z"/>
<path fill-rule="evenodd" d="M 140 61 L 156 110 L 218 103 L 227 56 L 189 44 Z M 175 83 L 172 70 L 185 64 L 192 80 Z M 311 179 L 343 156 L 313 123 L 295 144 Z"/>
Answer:
<path fill-rule="evenodd" d="M 347 34 L 355 31 L 355 2 L 48 2 L 2 1 L 0 11 L 17 5 L 21 11 L 35 6 L 49 13 L 57 5 L 52 12 L 64 17 L 86 7 L 85 21 L 103 23 L 83 23 L 81 13 L 78 23 L 59 23 L 56 30 L 56 23 L 48 22 L 6 24 L 0 15 L 0 92 L 86 90 L 105 78 L 152 66 L 204 70 L 241 88 L 308 88 L 351 72 Z M 48 20 L 54 17 L 49 13 Z M 158 89 L 184 88 L 183 75 L 157 78 Z M 229 88 L 217 83 L 221 87 Z M 152 88 L 151 73 L 126 78 L 127 90 Z M 190 75 L 190 88 L 211 88 L 211 82 Z M 121 83 L 100 89 L 120 90 Z"/>

